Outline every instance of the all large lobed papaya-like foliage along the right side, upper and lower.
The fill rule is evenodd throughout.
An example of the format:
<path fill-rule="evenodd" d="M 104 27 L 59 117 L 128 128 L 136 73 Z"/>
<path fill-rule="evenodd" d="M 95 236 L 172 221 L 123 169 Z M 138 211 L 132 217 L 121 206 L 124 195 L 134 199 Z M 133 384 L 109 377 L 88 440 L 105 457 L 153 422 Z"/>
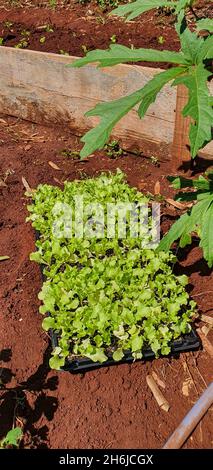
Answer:
<path fill-rule="evenodd" d="M 89 52 L 83 59 L 79 59 L 71 66 L 97 62 L 101 67 L 113 66 L 128 62 L 166 62 L 171 68 L 157 73 L 143 88 L 134 93 L 121 97 L 118 100 L 101 103 L 86 113 L 87 116 L 100 117 L 97 127 L 87 132 L 82 137 L 84 147 L 80 153 L 81 158 L 88 156 L 95 150 L 104 147 L 109 139 L 115 124 L 132 108 L 138 106 L 139 118 L 143 118 L 150 104 L 164 85 L 171 82 L 172 86 L 183 84 L 188 88 L 188 102 L 184 107 L 183 115 L 191 118 L 189 141 L 192 158 L 195 158 L 212 138 L 213 124 L 213 98 L 209 93 L 208 81 L 212 75 L 213 58 L 213 20 L 210 18 L 198 18 L 193 10 L 195 0 L 136 0 L 132 3 L 121 5 L 112 14 L 132 20 L 142 13 L 154 8 L 166 7 L 176 15 L 176 31 L 180 40 L 180 51 L 159 51 L 153 49 L 130 49 L 114 44 L 108 50 L 95 50 Z M 195 18 L 194 31 L 187 24 L 187 11 L 191 10 Z M 202 31 L 207 31 L 207 36 L 202 37 Z M 209 185 L 208 190 L 200 193 L 201 180 Z M 174 181 L 174 184 L 178 180 Z M 183 180 L 179 182 L 182 187 Z M 200 237 L 200 246 L 203 248 L 204 258 L 208 265 L 213 265 L 213 246 L 211 241 L 211 229 L 213 224 L 212 201 L 212 177 L 200 177 L 197 181 L 188 180 L 188 186 L 194 186 L 197 192 L 190 194 L 191 199 L 197 202 L 189 212 L 180 217 L 172 226 L 169 233 L 161 241 L 158 251 L 168 251 L 175 240 L 180 239 L 180 246 L 191 242 L 191 233 L 196 232 Z M 184 194 L 182 198 L 186 197 Z M 199 222 L 199 223 L 198 223 Z"/>

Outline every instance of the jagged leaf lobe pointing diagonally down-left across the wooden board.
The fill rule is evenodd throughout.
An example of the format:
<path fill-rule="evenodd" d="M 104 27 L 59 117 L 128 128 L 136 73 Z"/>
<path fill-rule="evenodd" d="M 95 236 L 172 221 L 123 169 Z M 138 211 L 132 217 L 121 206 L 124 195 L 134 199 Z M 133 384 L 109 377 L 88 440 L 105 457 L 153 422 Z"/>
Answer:
<path fill-rule="evenodd" d="M 156 95 L 161 88 L 170 80 L 184 73 L 184 68 L 174 67 L 157 74 L 142 89 L 129 96 L 108 103 L 98 104 L 94 109 L 88 111 L 86 116 L 99 116 L 100 124 L 91 129 L 82 137 L 85 143 L 80 155 L 82 158 L 90 155 L 95 150 L 102 148 L 108 141 L 110 133 L 115 124 L 127 114 L 137 103 L 141 102 L 138 114 L 143 117 L 149 105 L 155 101 Z"/>

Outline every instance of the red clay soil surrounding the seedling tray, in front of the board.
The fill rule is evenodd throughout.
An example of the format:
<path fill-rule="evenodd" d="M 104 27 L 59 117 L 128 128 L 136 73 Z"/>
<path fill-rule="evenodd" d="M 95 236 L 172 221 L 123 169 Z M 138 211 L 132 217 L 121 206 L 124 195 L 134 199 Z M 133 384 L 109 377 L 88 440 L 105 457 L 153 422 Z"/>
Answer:
<path fill-rule="evenodd" d="M 38 312 L 42 280 L 39 266 L 29 261 L 35 239 L 31 225 L 25 222 L 22 177 L 35 188 L 39 183 L 62 184 L 65 179 L 119 167 L 131 185 L 154 193 L 159 181 L 161 193 L 171 195 L 165 179 L 171 174 L 169 156 L 160 155 L 154 165 L 143 156 L 127 154 L 112 160 L 98 152 L 79 162 L 62 156 L 63 149 L 79 149 L 78 139 L 66 129 L 4 116 L 0 119 L 0 255 L 10 257 L 1 262 L 0 280 L 1 381 L 6 387 L 0 397 L 0 438 L 15 424 L 23 428 L 25 447 L 161 448 L 212 380 L 211 357 L 200 350 L 179 358 L 104 367 L 84 375 L 50 371 L 49 338 L 42 331 Z M 60 170 L 53 169 L 49 161 Z M 177 211 L 162 205 L 162 213 L 166 229 Z M 200 313 L 211 316 L 213 275 L 196 243 L 192 249 L 180 251 L 179 259 L 176 271 L 189 275 L 191 296 Z M 203 323 L 198 320 L 197 325 Z M 210 332 L 208 339 L 212 337 Z M 168 413 L 159 408 L 147 386 L 146 376 L 152 371 L 165 382 L 162 391 L 170 404 Z M 184 382 L 188 396 L 183 395 Z M 210 448 L 211 422 L 212 409 L 184 447 Z"/>

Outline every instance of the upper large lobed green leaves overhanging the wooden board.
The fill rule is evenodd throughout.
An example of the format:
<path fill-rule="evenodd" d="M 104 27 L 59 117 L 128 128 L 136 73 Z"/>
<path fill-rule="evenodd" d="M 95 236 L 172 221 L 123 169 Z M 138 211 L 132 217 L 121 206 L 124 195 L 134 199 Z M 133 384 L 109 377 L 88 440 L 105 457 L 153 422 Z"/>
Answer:
<path fill-rule="evenodd" d="M 132 108 L 138 106 L 138 115 L 143 118 L 150 104 L 153 103 L 168 82 L 172 86 L 185 85 L 189 90 L 188 103 L 183 109 L 184 116 L 192 119 L 190 127 L 190 146 L 192 158 L 211 140 L 213 122 L 212 97 L 208 89 L 211 76 L 211 59 L 213 58 L 213 37 L 203 38 L 199 35 L 201 29 L 212 30 L 213 20 L 198 21 L 198 28 L 192 32 L 188 26 L 185 10 L 191 7 L 192 0 L 160 1 L 136 0 L 133 3 L 119 6 L 114 10 L 118 16 L 126 16 L 128 20 L 136 18 L 141 13 L 162 6 L 170 7 L 176 14 L 176 30 L 180 39 L 180 52 L 159 51 L 154 49 L 130 49 L 119 44 L 112 44 L 108 50 L 94 50 L 82 59 L 71 64 L 72 67 L 82 67 L 96 62 L 101 67 L 113 66 L 128 62 L 162 62 L 174 65 L 172 68 L 154 76 L 143 88 L 118 100 L 101 103 L 86 113 L 86 116 L 99 116 L 97 127 L 87 132 L 82 142 L 85 143 L 80 156 L 90 155 L 102 148 L 109 139 L 115 124 Z"/>

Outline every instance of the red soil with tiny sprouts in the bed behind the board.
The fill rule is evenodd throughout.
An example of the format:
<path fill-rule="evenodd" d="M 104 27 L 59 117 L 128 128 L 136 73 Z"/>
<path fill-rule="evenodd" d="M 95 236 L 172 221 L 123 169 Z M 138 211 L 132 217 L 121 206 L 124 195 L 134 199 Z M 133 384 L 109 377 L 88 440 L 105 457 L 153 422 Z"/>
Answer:
<path fill-rule="evenodd" d="M 16 2 L 11 6 L 11 2 L 0 0 L 0 38 L 3 45 L 15 47 L 24 39 L 27 41 L 24 47 L 28 49 L 74 56 L 83 56 L 85 51 L 96 48 L 106 49 L 113 40 L 129 47 L 179 50 L 172 15 L 152 10 L 134 21 L 124 22 L 121 18 L 109 17 L 109 12 L 103 12 L 95 1 L 60 3 L 61 7 L 59 5 L 54 10 L 46 7 L 48 2 L 20 1 L 22 7 L 18 8 Z M 37 5 L 40 7 L 36 8 Z M 211 1 L 201 0 L 196 6 L 199 17 L 213 15 Z M 188 18 L 193 24 L 191 13 Z M 53 31 L 42 28 L 45 25 Z M 30 34 L 26 35 L 26 31 Z M 168 67 L 159 63 L 149 65 Z"/>

